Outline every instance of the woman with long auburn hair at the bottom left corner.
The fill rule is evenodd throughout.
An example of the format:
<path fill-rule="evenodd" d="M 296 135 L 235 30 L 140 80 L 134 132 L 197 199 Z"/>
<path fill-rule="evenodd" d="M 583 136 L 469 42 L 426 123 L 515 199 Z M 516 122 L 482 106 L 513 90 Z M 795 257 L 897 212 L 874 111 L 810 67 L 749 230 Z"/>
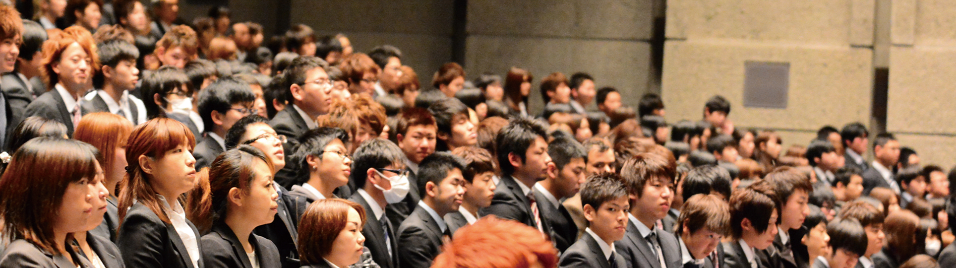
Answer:
<path fill-rule="evenodd" d="M 0 178 L 7 246 L 0 267 L 91 267 L 67 240 L 106 211 L 97 149 L 62 138 L 36 138 L 13 154 Z"/>

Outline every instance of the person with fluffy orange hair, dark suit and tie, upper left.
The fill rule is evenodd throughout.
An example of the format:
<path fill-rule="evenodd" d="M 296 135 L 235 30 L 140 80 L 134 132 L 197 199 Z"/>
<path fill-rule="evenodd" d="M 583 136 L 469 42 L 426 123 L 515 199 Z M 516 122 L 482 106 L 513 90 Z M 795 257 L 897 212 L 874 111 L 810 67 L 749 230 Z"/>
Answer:
<path fill-rule="evenodd" d="M 80 101 L 92 87 L 93 70 L 99 68 L 93 36 L 80 26 L 71 26 L 43 43 L 43 79 L 47 93 L 27 105 L 24 117 L 39 116 L 63 123 L 67 135 L 81 116 Z"/>

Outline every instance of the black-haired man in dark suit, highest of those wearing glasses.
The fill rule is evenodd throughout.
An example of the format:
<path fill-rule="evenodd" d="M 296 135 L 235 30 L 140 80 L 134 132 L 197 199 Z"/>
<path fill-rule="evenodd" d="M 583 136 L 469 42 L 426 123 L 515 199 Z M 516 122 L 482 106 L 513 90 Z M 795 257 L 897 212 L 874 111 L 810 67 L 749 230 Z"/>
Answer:
<path fill-rule="evenodd" d="M 318 125 L 315 118 L 329 113 L 331 109 L 332 81 L 325 72 L 328 64 L 325 60 L 315 56 L 299 56 L 293 59 L 286 69 L 285 84 L 286 100 L 289 106 L 279 111 L 269 123 L 275 132 L 285 135 L 288 142 L 283 145 L 287 152 L 293 151 L 298 145 L 298 137 L 310 128 Z M 292 188 L 295 183 L 294 167 L 289 165 L 276 173 L 275 182 L 286 188 Z"/>

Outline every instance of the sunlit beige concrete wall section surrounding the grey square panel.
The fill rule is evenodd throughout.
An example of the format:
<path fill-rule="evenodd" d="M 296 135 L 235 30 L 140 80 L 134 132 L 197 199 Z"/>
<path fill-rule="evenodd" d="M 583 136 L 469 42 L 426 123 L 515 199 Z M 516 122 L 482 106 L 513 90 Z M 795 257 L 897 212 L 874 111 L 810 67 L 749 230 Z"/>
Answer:
<path fill-rule="evenodd" d="M 807 145 L 820 126 L 870 122 L 873 0 L 671 0 L 662 95 L 668 122 L 700 120 L 722 95 L 737 127 Z M 743 105 L 747 61 L 790 63 L 785 109 Z"/>

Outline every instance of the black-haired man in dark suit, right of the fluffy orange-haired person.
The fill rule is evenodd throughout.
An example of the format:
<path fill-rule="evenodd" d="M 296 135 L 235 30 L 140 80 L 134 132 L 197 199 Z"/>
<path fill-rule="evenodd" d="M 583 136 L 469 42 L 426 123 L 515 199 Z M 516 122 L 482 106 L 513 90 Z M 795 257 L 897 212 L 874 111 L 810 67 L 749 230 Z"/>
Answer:
<path fill-rule="evenodd" d="M 136 59 L 140 51 L 121 39 L 107 40 L 97 46 L 99 63 L 98 77 L 93 85 L 98 90 L 86 94 L 84 112 L 107 112 L 120 115 L 133 125 L 146 122 L 146 106 L 139 98 L 129 94 L 140 80 Z M 211 161 L 211 160 L 210 160 Z"/>

